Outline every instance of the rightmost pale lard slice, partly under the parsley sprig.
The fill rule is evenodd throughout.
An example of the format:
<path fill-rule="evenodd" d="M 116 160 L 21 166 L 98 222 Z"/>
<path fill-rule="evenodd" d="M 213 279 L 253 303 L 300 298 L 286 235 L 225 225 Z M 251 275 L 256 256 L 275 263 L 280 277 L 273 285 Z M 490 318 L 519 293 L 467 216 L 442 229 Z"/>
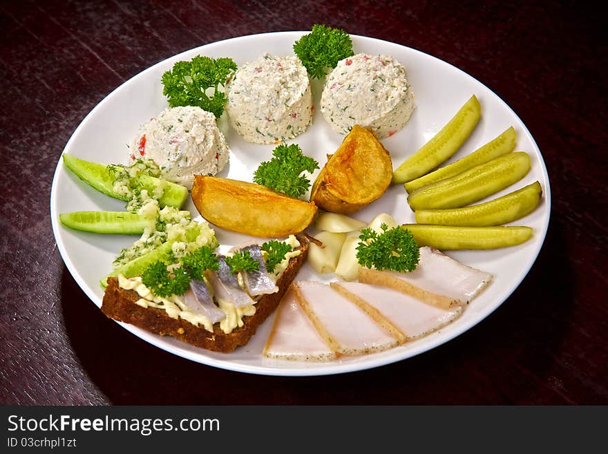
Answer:
<path fill-rule="evenodd" d="M 468 304 L 492 278 L 428 246 L 420 248 L 420 261 L 412 272 L 359 269 L 359 282 L 391 287 L 440 308 Z"/>

